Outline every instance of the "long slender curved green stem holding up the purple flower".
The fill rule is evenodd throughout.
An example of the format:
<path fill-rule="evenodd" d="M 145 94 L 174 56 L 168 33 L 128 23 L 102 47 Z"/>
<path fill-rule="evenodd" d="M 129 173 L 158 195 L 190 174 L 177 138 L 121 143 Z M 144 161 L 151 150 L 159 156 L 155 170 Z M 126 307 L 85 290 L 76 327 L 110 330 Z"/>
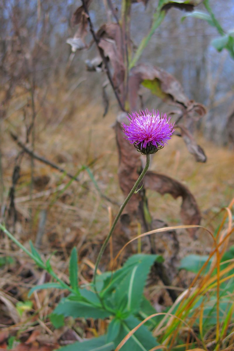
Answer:
<path fill-rule="evenodd" d="M 101 247 L 101 250 L 98 254 L 98 257 L 97 257 L 97 261 L 96 261 L 96 265 L 95 265 L 95 270 L 94 270 L 94 274 L 93 274 L 93 285 L 94 285 L 94 289 L 95 291 L 97 292 L 96 290 L 96 276 L 97 276 L 97 269 L 98 269 L 98 265 L 100 263 L 100 260 L 102 258 L 102 255 L 103 255 L 103 252 L 106 248 L 106 245 L 108 244 L 108 241 L 110 240 L 110 237 L 115 229 L 115 226 L 118 222 L 118 219 L 119 217 L 121 216 L 121 213 L 123 212 L 124 210 L 124 207 L 126 206 L 126 204 L 128 203 L 128 201 L 130 200 L 130 198 L 132 197 L 132 195 L 135 193 L 135 190 L 137 189 L 138 185 L 141 183 L 142 179 L 144 178 L 145 176 L 145 173 L 148 171 L 148 168 L 149 168 L 149 164 L 150 164 L 150 155 L 146 155 L 146 164 L 145 164 L 145 167 L 142 171 L 142 173 L 140 174 L 139 178 L 137 179 L 136 183 L 134 184 L 132 190 L 130 191 L 130 193 L 128 194 L 128 196 L 126 197 L 126 199 L 124 200 L 122 206 L 119 208 L 119 212 L 115 218 L 115 220 L 113 221 L 113 224 L 112 224 L 112 227 L 110 229 L 110 232 L 108 234 L 108 236 L 106 237 L 102 247 Z"/>

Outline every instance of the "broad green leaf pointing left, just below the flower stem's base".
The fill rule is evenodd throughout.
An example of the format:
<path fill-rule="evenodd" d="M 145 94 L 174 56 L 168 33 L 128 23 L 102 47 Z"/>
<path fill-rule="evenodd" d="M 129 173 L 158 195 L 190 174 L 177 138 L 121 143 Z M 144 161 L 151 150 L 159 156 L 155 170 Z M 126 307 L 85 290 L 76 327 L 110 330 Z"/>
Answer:
<path fill-rule="evenodd" d="M 68 298 L 62 299 L 56 309 L 56 314 L 63 314 L 64 317 L 73 318 L 107 318 L 110 312 L 104 310 L 101 306 L 94 306 L 84 301 L 71 301 Z"/>

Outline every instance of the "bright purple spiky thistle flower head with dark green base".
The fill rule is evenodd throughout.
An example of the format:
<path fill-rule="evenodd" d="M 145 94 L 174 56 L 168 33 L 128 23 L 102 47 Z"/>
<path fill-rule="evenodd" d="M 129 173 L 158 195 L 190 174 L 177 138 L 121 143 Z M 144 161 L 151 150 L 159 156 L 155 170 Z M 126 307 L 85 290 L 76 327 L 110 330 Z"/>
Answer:
<path fill-rule="evenodd" d="M 164 147 L 171 139 L 174 132 L 174 124 L 170 123 L 170 117 L 161 115 L 159 112 L 148 110 L 132 112 L 127 116 L 129 125 L 122 122 L 126 139 L 137 148 L 143 155 L 153 154 Z"/>

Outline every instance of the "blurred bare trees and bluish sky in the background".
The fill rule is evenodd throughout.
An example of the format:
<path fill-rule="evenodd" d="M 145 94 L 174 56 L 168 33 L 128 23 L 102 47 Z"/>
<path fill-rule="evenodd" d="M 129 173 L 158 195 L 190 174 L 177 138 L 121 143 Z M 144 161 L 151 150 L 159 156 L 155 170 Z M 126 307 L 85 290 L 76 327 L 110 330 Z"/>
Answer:
<path fill-rule="evenodd" d="M 71 15 L 79 1 L 62 0 L 1 0 L 0 18 L 0 70 L 3 106 L 19 86 L 27 89 L 33 85 L 48 90 L 51 83 L 66 89 L 82 88 L 82 94 L 100 96 L 100 74 L 86 71 L 85 60 L 95 57 L 95 47 L 89 52 L 71 52 L 66 40 L 73 36 Z M 132 6 L 131 32 L 138 46 L 150 27 L 157 1 Z M 118 11 L 121 1 L 114 1 Z M 210 1 L 217 20 L 225 31 L 232 28 L 233 0 Z M 196 10 L 203 10 L 201 4 Z M 182 84 L 187 95 L 208 107 L 200 126 L 203 133 L 219 144 L 226 144 L 227 120 L 233 112 L 233 60 L 227 52 L 218 54 L 210 41 L 217 37 L 216 28 L 206 21 L 187 18 L 181 23 L 183 12 L 172 8 L 151 37 L 139 62 L 150 62 L 173 74 Z M 90 16 L 97 30 L 106 21 L 105 1 L 93 1 Z M 90 36 L 90 34 L 87 34 Z M 91 38 L 90 38 L 91 39 Z M 103 81 L 105 77 L 103 76 Z M 93 87 L 96 87 L 93 89 Z M 109 90 L 109 88 L 108 88 Z M 56 91 L 54 91 L 56 93 Z M 112 93 L 110 93 L 112 94 Z M 145 94 L 145 91 L 142 91 Z M 80 92 L 79 92 L 80 95 Z M 145 103 L 151 103 L 145 97 Z M 154 98 L 155 99 L 155 98 Z M 154 100 L 154 106 L 160 105 Z M 1 113 L 4 113 L 4 107 Z M 222 117 L 222 118 L 220 118 Z"/>

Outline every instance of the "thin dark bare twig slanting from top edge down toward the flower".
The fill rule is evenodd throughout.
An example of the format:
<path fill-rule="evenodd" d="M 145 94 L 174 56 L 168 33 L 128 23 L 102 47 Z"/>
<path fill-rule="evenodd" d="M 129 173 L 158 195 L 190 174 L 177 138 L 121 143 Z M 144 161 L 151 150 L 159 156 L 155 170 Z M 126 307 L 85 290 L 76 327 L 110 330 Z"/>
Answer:
<path fill-rule="evenodd" d="M 85 13 L 86 13 L 86 15 L 87 15 L 87 20 L 88 20 L 88 22 L 89 22 L 90 32 L 91 32 L 91 34 L 92 34 L 92 36 L 93 36 L 93 39 L 94 39 L 94 41 L 95 41 L 95 43 L 96 43 L 96 45 L 97 45 L 98 51 L 99 51 L 99 53 L 100 53 L 100 56 L 101 56 L 101 58 L 102 58 L 102 60 L 103 60 L 103 62 L 104 62 L 105 70 L 106 70 L 106 75 L 108 76 L 108 79 L 109 79 L 109 81 L 110 81 L 110 84 L 111 84 L 111 87 L 112 87 L 112 89 L 113 89 L 113 92 L 115 93 L 115 96 L 116 96 L 116 99 L 117 99 L 117 101 L 118 101 L 119 107 L 121 108 L 122 111 L 125 111 L 125 108 L 124 108 L 124 106 L 122 105 L 122 102 L 121 102 L 121 100 L 120 100 L 120 98 L 119 98 L 119 94 L 117 93 L 117 90 L 116 90 L 116 88 L 115 88 L 115 86 L 114 86 L 114 83 L 113 83 L 113 80 L 112 80 L 112 77 L 111 77 L 111 73 L 110 73 L 110 69 L 109 69 L 109 67 L 108 67 L 108 61 L 107 61 L 107 59 L 106 59 L 106 57 L 105 57 L 105 55 L 104 55 L 104 52 L 103 52 L 102 48 L 99 47 L 99 40 L 98 40 L 98 38 L 97 38 L 97 36 L 96 36 L 96 34 L 95 34 L 95 31 L 94 31 L 94 28 L 93 28 L 93 24 L 92 24 L 92 21 L 91 21 L 91 19 L 90 19 L 89 11 L 88 11 L 88 9 L 87 9 L 85 0 L 82 0 L 82 4 L 83 4 L 83 7 L 84 7 L 84 11 L 85 11 Z"/>

